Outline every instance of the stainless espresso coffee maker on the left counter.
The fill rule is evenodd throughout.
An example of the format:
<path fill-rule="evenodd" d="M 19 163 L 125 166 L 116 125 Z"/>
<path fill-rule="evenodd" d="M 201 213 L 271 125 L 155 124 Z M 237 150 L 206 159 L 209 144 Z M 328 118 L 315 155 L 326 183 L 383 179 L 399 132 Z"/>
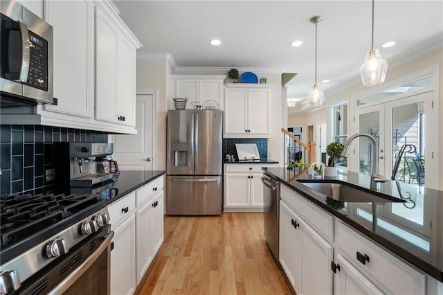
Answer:
<path fill-rule="evenodd" d="M 65 187 L 91 187 L 109 181 L 117 172 L 113 143 L 54 143 L 55 183 Z"/>

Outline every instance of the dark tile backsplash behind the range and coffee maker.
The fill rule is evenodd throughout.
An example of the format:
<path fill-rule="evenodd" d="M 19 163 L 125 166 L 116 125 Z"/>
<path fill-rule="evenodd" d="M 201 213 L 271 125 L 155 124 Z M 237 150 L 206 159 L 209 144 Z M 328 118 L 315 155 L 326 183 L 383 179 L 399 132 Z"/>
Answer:
<path fill-rule="evenodd" d="M 0 193 L 21 193 L 45 186 L 53 168 L 53 143 L 107 143 L 108 134 L 41 125 L 1 125 Z"/>

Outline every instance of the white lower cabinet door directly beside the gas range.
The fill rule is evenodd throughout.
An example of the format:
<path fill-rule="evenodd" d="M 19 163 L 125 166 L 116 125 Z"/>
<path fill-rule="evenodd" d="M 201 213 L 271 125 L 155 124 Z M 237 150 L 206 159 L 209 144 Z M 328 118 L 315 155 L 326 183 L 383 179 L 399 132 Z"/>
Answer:
<path fill-rule="evenodd" d="M 136 218 L 127 220 L 114 231 L 111 243 L 111 294 L 132 294 L 136 288 Z"/>

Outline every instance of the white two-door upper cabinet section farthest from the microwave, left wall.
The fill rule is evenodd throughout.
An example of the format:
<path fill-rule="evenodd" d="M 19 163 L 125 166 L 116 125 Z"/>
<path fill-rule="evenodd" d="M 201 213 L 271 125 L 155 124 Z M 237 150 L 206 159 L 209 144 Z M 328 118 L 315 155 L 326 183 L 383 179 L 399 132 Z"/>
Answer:
<path fill-rule="evenodd" d="M 122 24 L 96 7 L 96 120 L 135 132 L 136 49 L 141 44 Z"/>

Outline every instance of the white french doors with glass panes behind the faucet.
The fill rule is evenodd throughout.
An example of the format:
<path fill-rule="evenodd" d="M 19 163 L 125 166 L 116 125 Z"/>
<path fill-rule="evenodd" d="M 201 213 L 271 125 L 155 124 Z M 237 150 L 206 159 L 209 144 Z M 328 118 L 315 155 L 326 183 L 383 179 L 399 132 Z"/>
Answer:
<path fill-rule="evenodd" d="M 437 107 L 433 91 L 408 96 L 379 105 L 359 107 L 355 111 L 354 130 L 374 136 L 379 143 L 379 171 L 390 178 L 399 150 L 412 145 L 401 157 L 396 178 L 399 181 L 437 188 Z M 372 147 L 367 138 L 359 138 L 352 170 L 369 174 Z M 424 163 L 424 170 L 417 165 Z M 425 174 L 424 171 L 433 171 Z M 423 179 L 420 179 L 423 177 Z"/>

